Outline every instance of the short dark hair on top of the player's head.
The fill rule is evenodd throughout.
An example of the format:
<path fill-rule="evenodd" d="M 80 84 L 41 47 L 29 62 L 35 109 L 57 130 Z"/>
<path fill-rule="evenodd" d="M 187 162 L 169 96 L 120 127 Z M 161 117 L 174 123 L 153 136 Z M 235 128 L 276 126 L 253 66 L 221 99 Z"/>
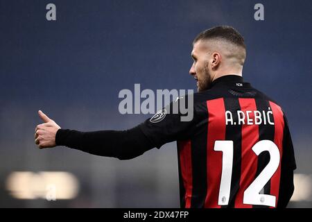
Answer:
<path fill-rule="evenodd" d="M 212 39 L 223 39 L 237 46 L 242 46 L 246 49 L 243 35 L 241 35 L 235 28 L 231 26 L 216 26 L 209 28 L 199 33 L 193 40 L 193 44 L 199 40 L 212 40 Z"/>

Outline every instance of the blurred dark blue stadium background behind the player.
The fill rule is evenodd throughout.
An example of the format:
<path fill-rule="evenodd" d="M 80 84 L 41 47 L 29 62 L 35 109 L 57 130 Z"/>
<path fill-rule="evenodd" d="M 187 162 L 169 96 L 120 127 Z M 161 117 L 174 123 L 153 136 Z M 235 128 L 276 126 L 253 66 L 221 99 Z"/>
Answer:
<path fill-rule="evenodd" d="M 57 20 L 46 20 L 54 3 Z M 254 5 L 264 21 L 254 20 Z M 121 130 L 121 89 L 195 89 L 191 42 L 220 24 L 245 37 L 243 76 L 276 99 L 297 170 L 288 207 L 312 206 L 311 1 L 0 0 L 0 207 L 179 207 L 175 143 L 120 161 L 39 150 L 42 110 L 62 128 Z M 57 200 L 48 201 L 56 189 Z"/>

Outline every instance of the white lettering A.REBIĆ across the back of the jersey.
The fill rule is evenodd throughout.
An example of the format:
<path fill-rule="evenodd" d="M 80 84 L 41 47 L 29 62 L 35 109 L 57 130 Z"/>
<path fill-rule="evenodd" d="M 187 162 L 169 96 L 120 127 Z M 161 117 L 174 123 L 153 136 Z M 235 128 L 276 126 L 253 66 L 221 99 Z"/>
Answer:
<path fill-rule="evenodd" d="M 237 114 L 237 115 L 236 115 Z M 259 110 L 237 110 L 236 114 L 229 110 L 225 111 L 225 123 L 227 125 L 274 125 L 273 112 L 268 108 L 268 111 Z M 237 116 L 237 118 L 233 118 Z"/>

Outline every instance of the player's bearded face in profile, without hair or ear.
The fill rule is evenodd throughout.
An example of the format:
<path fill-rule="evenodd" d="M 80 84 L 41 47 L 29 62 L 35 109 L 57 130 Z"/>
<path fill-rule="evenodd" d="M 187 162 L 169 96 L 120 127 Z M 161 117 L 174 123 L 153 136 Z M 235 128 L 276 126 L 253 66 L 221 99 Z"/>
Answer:
<path fill-rule="evenodd" d="M 208 89 L 211 83 L 211 71 L 209 71 L 209 52 L 205 42 L 198 41 L 193 44 L 191 56 L 193 65 L 189 70 L 189 74 L 194 76 L 197 82 L 198 92 Z"/>

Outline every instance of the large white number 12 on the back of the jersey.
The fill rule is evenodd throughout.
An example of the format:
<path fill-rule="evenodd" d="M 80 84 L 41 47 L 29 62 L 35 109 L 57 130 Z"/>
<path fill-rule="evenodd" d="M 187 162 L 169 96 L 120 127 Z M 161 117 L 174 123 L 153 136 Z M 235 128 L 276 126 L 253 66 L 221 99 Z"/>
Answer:
<path fill-rule="evenodd" d="M 218 205 L 228 205 L 229 193 L 231 189 L 232 180 L 232 166 L 233 166 L 233 141 L 232 140 L 217 140 L 214 144 L 214 151 L 223 152 L 222 160 L 222 175 L 220 182 L 220 190 L 218 197 Z M 261 189 L 272 178 L 275 171 L 279 167 L 279 148 L 275 143 L 268 139 L 261 140 L 252 146 L 252 151 L 259 155 L 263 151 L 270 153 L 270 162 L 261 171 L 259 176 L 252 182 L 252 184 L 245 189 L 243 195 L 243 203 L 250 205 L 267 205 L 275 207 L 276 197 L 268 194 L 259 194 Z"/>

